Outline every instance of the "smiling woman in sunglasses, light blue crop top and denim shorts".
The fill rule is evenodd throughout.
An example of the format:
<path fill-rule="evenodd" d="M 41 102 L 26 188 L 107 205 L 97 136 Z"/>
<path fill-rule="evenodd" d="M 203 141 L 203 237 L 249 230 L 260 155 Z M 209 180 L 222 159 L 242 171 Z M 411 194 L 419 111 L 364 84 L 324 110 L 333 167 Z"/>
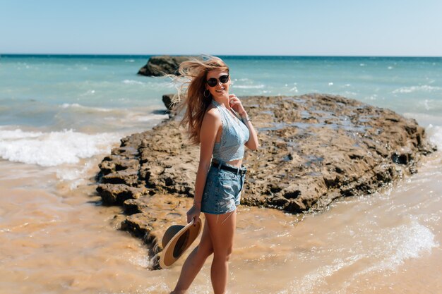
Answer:
<path fill-rule="evenodd" d="M 201 145 L 195 197 L 187 221 L 199 221 L 201 212 L 206 221 L 201 241 L 184 262 L 172 293 L 185 293 L 212 253 L 213 290 L 215 294 L 225 293 L 236 206 L 246 172 L 241 166 L 244 146 L 256 150 L 258 137 L 241 101 L 229 94 L 229 68 L 221 59 L 208 56 L 203 61 L 185 61 L 179 73 L 190 79 L 182 123 L 188 126 L 191 140 Z"/>

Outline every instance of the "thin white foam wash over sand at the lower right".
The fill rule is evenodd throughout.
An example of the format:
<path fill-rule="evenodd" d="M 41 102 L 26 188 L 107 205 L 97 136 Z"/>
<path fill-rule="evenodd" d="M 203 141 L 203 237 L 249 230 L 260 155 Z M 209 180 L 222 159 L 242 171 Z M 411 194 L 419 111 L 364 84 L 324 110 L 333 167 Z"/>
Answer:
<path fill-rule="evenodd" d="M 364 237 L 374 241 L 374 243 L 370 241 L 369 247 L 361 242 L 355 243 L 350 250 L 350 255 L 339 257 L 339 254 L 337 254 L 336 258 L 329 264 L 320 265 L 301 278 L 290 281 L 287 290 L 280 293 L 316 293 L 318 292 L 317 288 L 323 288 L 326 285 L 327 278 L 333 277 L 342 270 L 347 271 L 354 264 L 357 267 L 364 264 L 364 269 L 354 271 L 352 275 L 348 276 L 347 283 L 349 284 L 355 279 L 360 279 L 361 276 L 373 272 L 395 271 L 405 260 L 417 258 L 422 253 L 430 251 L 431 248 L 439 246 L 434 240 L 434 233 L 415 219 L 410 219 L 409 223 L 401 226 L 384 229 L 375 228 L 374 231 L 369 229 L 365 233 L 362 233 Z M 352 235 L 354 235 L 354 232 L 352 232 Z M 328 250 L 330 252 L 333 252 L 333 250 L 340 252 L 345 248 L 337 249 L 330 245 Z M 306 262 L 314 258 L 320 257 L 311 255 L 311 252 L 306 252 Z M 346 293 L 346 291 L 343 293 Z"/>

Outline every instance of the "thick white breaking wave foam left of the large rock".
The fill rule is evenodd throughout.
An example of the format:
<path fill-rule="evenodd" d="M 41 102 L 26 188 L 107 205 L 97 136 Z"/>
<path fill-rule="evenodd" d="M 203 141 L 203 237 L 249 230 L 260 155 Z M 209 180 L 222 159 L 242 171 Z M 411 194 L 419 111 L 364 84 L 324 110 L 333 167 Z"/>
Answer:
<path fill-rule="evenodd" d="M 73 130 L 61 132 L 24 132 L 0 130 L 0 157 L 9 161 L 40 166 L 76 164 L 80 159 L 110 152 L 119 135 L 89 135 Z"/>

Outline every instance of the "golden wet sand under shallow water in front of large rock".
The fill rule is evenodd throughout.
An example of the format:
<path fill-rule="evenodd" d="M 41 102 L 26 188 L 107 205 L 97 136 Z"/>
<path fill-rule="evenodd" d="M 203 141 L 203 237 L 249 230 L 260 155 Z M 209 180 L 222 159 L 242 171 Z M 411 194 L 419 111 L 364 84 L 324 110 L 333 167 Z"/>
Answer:
<path fill-rule="evenodd" d="M 441 164 L 436 152 L 394 187 L 318 214 L 240 207 L 229 293 L 437 293 Z M 174 287 L 184 258 L 148 270 L 147 247 L 116 230 L 119 208 L 97 205 L 96 172 L 71 190 L 54 169 L 0 161 L 0 293 Z M 190 293 L 211 291 L 208 260 Z"/>

